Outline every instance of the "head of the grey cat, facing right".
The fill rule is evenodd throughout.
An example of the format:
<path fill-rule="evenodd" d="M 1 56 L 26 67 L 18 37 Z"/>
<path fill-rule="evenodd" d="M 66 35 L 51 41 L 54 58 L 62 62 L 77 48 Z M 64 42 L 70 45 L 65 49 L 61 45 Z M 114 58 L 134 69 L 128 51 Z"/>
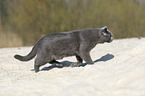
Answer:
<path fill-rule="evenodd" d="M 112 32 L 108 30 L 107 26 L 100 28 L 100 33 L 101 33 L 100 34 L 101 43 L 104 43 L 104 42 L 110 43 L 113 41 Z"/>

